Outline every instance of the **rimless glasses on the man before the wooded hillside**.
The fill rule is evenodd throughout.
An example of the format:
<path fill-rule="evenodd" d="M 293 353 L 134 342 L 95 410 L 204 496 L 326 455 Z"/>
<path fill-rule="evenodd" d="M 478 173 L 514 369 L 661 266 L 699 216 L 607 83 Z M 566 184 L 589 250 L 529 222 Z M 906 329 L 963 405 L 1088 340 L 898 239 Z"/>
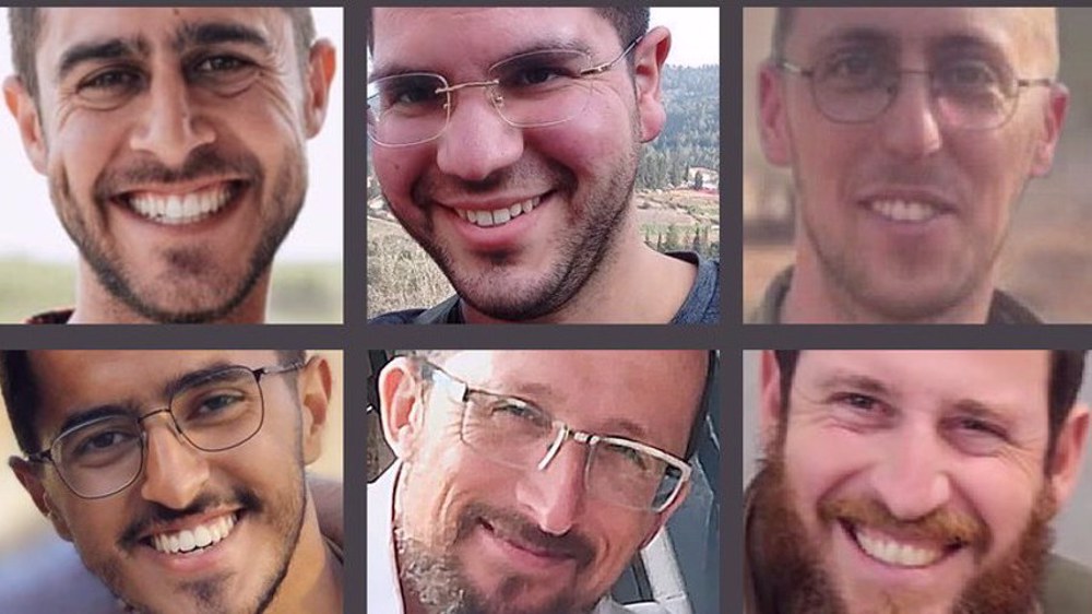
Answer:
<path fill-rule="evenodd" d="M 568 121 L 587 106 L 591 78 L 610 70 L 641 38 L 601 64 L 593 64 L 591 56 L 580 50 L 550 49 L 499 61 L 489 68 L 486 81 L 450 85 L 431 72 L 377 79 L 368 83 L 368 137 L 388 147 L 427 143 L 448 127 L 452 93 L 468 87 L 485 88 L 500 117 L 517 128 Z"/>

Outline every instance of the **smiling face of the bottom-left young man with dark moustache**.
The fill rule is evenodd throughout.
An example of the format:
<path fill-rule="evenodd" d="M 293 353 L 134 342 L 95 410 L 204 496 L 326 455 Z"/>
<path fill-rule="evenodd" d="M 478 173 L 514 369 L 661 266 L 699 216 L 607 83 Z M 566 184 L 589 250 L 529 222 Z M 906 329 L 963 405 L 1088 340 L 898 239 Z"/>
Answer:
<path fill-rule="evenodd" d="M 258 612 L 278 587 L 298 587 L 293 582 L 299 574 L 288 575 L 289 568 L 318 565 L 302 560 L 297 546 L 301 529 L 305 535 L 316 531 L 304 528 L 304 465 L 318 456 L 323 416 L 308 411 L 299 392 L 313 365 L 263 375 L 258 388 L 249 373 L 226 377 L 224 367 L 283 364 L 274 352 L 35 352 L 31 364 L 40 399 L 34 424 L 43 447 L 79 424 L 147 416 L 141 422 L 142 470 L 112 495 L 75 495 L 57 463 L 66 464 L 73 485 L 108 487 L 107 459 L 117 460 L 115 450 L 130 442 L 128 430 L 92 426 L 98 428 L 92 436 L 67 436 L 73 445 L 62 452 L 54 447 L 51 463 L 13 461 L 58 533 L 127 603 L 157 613 Z M 150 415 L 168 402 L 188 434 L 186 427 L 178 434 L 166 413 Z M 215 441 L 210 433 L 224 433 L 229 414 L 262 405 L 257 433 L 237 447 L 209 452 L 191 444 Z M 78 467 L 84 467 L 83 482 L 73 479 Z"/>

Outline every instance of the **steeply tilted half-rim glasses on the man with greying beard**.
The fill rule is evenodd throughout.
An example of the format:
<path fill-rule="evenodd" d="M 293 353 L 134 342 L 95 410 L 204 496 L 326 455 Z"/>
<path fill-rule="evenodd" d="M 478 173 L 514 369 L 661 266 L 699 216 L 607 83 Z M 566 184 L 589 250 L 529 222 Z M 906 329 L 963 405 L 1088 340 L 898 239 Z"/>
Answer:
<path fill-rule="evenodd" d="M 587 446 L 584 487 L 592 496 L 630 509 L 661 512 L 690 479 L 690 465 L 668 452 L 621 437 L 575 430 L 535 405 L 471 388 L 440 367 L 420 373 L 462 406 L 463 444 L 498 464 L 544 471 L 566 439 Z"/>

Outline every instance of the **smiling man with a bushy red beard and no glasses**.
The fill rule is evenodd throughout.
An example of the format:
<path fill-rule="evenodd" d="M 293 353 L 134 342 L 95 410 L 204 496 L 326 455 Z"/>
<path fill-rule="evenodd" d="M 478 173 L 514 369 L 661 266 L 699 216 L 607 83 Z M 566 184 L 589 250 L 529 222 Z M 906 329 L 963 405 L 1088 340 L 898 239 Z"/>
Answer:
<path fill-rule="evenodd" d="M 1068 614 L 1051 555 L 1089 412 L 1081 352 L 778 351 L 748 487 L 748 614 Z"/>

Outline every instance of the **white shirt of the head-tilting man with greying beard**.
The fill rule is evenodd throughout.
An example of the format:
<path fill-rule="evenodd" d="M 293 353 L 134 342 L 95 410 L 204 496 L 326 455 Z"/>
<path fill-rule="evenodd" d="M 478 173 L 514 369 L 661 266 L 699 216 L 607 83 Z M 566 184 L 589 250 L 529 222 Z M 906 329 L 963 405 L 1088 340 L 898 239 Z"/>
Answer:
<path fill-rule="evenodd" d="M 394 488 L 402 463 L 395 462 L 368 485 L 368 612 L 404 614 L 402 585 L 394 556 Z M 669 614 L 655 603 L 620 605 L 603 598 L 591 614 Z"/>

